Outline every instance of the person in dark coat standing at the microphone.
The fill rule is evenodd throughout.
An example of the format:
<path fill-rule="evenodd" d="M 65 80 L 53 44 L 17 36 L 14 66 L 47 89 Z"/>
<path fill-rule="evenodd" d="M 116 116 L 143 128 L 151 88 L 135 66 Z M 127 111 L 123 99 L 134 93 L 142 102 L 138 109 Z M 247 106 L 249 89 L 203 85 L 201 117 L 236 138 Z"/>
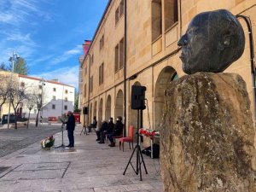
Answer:
<path fill-rule="evenodd" d="M 75 118 L 73 116 L 73 113 L 71 111 L 67 112 L 67 122 L 65 122 L 65 124 L 67 124 L 67 137 L 68 137 L 68 141 L 69 144 L 67 145 L 67 148 L 73 148 L 74 147 L 74 137 L 73 137 L 73 131 L 75 129 Z"/>

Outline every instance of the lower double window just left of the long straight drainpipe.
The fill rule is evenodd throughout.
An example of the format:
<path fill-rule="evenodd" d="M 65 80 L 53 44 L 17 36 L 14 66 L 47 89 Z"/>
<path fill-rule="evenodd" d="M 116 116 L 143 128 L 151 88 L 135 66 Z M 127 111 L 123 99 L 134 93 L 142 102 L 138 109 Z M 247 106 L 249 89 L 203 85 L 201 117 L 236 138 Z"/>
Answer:
<path fill-rule="evenodd" d="M 125 63 L 125 40 L 122 38 L 114 48 L 114 70 L 118 72 Z"/>

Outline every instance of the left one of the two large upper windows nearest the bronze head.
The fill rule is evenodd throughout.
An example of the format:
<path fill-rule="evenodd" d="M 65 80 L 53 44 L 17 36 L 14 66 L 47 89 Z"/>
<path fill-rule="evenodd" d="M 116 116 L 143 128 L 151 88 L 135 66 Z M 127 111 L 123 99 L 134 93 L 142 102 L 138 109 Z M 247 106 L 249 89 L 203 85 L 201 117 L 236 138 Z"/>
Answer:
<path fill-rule="evenodd" d="M 162 34 L 162 3 L 161 0 L 152 1 L 152 41 Z"/>

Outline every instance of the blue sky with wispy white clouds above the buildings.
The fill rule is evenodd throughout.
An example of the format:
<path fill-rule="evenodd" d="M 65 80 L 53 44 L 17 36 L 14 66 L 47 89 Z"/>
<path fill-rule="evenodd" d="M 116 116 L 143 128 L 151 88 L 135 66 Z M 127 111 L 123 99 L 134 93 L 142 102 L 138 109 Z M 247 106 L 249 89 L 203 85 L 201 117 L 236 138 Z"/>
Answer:
<path fill-rule="evenodd" d="M 29 76 L 78 88 L 79 55 L 93 38 L 108 0 L 0 0 L 0 63 L 13 51 Z"/>

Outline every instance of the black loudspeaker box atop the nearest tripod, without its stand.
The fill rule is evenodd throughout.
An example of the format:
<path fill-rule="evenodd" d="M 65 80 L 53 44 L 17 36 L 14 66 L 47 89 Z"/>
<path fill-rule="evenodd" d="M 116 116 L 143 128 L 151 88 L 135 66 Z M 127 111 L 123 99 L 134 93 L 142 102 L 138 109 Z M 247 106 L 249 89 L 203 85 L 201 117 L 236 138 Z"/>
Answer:
<path fill-rule="evenodd" d="M 145 109 L 145 86 L 131 86 L 131 109 Z"/>

